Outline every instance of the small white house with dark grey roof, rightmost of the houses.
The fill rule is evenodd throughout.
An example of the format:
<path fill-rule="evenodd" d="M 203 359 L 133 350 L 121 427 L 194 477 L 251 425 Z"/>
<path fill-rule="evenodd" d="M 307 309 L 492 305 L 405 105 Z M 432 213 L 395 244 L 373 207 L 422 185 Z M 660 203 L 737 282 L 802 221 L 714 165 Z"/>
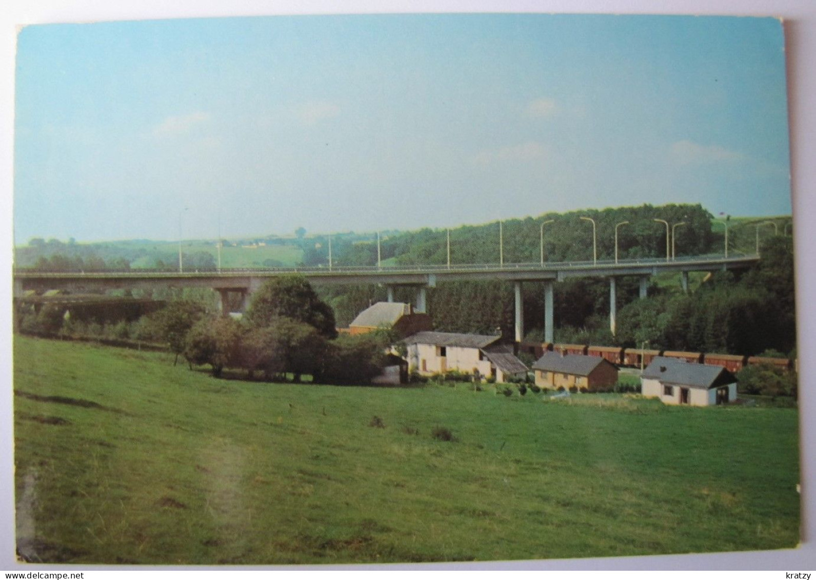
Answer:
<path fill-rule="evenodd" d="M 643 371 L 641 393 L 667 405 L 724 405 L 737 399 L 737 378 L 722 366 L 657 356 Z"/>

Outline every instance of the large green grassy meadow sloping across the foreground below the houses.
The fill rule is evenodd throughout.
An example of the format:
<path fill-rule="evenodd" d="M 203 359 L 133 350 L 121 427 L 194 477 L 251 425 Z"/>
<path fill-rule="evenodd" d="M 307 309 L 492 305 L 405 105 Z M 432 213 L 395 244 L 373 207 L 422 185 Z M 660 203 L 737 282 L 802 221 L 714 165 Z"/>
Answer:
<path fill-rule="evenodd" d="M 33 561 L 512 560 L 799 538 L 795 409 L 249 383 L 19 336 L 14 356 L 18 549 Z"/>

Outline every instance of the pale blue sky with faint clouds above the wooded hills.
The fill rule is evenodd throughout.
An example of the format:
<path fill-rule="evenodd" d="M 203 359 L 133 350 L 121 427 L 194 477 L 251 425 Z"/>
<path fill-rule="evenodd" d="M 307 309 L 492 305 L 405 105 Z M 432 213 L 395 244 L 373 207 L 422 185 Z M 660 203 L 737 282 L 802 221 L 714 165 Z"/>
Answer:
<path fill-rule="evenodd" d="M 17 39 L 14 238 L 791 213 L 778 20 L 330 15 Z"/>

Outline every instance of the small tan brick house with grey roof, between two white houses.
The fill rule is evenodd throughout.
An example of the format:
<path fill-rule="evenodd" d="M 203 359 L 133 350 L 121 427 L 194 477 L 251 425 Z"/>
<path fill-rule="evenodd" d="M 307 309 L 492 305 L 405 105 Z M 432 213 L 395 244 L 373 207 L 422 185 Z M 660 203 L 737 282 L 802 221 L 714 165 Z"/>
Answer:
<path fill-rule="evenodd" d="M 536 386 L 543 388 L 596 391 L 618 382 L 618 367 L 601 356 L 544 352 L 533 370 Z"/>

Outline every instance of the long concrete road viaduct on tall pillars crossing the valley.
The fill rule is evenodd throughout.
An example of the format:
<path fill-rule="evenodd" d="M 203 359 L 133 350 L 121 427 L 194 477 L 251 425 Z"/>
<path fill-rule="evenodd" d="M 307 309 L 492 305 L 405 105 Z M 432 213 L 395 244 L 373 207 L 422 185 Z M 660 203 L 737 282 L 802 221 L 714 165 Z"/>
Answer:
<path fill-rule="evenodd" d="M 222 311 L 230 293 L 242 296 L 246 308 L 251 294 L 264 280 L 291 273 L 303 275 L 311 284 L 379 284 L 393 301 L 396 286 L 410 286 L 416 290 L 415 309 L 425 312 L 426 289 L 444 281 L 499 280 L 513 283 L 515 295 L 516 341 L 524 337 L 524 312 L 521 301 L 523 283 L 543 283 L 544 336 L 552 342 L 552 290 L 557 281 L 570 277 L 604 277 L 610 283 L 610 330 L 615 332 L 617 309 L 616 280 L 619 277 L 639 277 L 640 296 L 645 298 L 649 278 L 663 272 L 680 272 L 681 284 L 688 290 L 689 272 L 750 268 L 759 260 L 758 255 L 728 256 L 705 255 L 681 259 L 626 259 L 619 261 L 546 262 L 471 264 L 455 266 L 398 266 L 398 267 L 319 267 L 319 268 L 264 268 L 220 269 L 216 271 L 155 272 L 130 270 L 126 272 L 42 272 L 17 268 L 13 274 L 15 298 L 26 290 L 69 290 L 71 292 L 101 292 L 104 290 L 153 290 L 157 287 L 211 288 L 220 294 Z"/>

